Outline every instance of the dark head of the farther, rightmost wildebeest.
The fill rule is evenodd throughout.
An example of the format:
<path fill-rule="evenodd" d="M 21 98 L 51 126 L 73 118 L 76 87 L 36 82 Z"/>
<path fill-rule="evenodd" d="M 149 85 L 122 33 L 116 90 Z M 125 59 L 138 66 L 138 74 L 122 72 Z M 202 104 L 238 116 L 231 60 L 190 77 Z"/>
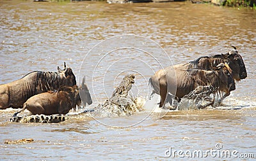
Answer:
<path fill-rule="evenodd" d="M 243 58 L 237 52 L 236 47 L 232 47 L 234 48 L 234 50 L 230 50 L 226 54 L 222 54 L 222 56 L 228 59 L 228 65 L 232 69 L 234 79 L 239 81 L 247 77 L 247 72 Z"/>

